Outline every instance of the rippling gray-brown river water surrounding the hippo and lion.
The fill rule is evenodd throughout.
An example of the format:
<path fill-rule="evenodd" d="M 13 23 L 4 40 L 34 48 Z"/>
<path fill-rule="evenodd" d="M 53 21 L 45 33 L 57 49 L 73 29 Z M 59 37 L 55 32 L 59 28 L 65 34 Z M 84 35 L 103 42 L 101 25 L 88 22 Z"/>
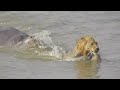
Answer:
<path fill-rule="evenodd" d="M 72 49 L 83 35 L 92 35 L 102 60 L 59 61 L 54 57 L 12 53 L 0 49 L 0 78 L 120 78 L 120 12 L 118 11 L 1 11 L 0 26 L 12 26 L 28 34 L 46 34 L 55 46 Z M 58 51 L 57 51 L 58 50 Z M 51 52 L 50 52 L 51 53 Z"/>

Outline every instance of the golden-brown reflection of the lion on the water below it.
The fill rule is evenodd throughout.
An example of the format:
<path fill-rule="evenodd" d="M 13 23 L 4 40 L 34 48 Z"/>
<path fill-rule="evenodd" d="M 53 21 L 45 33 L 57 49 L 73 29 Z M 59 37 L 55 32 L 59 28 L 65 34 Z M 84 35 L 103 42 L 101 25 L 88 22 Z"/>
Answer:
<path fill-rule="evenodd" d="M 97 79 L 97 72 L 100 67 L 100 60 L 81 60 L 75 62 L 78 79 Z"/>

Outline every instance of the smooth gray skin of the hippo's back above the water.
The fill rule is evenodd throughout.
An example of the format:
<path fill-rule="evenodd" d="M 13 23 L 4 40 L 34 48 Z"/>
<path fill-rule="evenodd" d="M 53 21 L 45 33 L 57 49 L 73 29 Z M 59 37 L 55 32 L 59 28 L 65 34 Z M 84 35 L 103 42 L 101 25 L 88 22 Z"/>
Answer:
<path fill-rule="evenodd" d="M 0 26 L 0 46 L 15 45 L 26 39 L 29 35 L 13 27 Z"/>

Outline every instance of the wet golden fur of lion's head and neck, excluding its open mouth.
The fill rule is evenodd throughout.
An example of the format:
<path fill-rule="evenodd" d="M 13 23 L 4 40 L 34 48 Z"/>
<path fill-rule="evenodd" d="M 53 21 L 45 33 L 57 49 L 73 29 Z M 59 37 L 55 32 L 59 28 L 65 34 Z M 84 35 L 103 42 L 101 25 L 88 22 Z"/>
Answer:
<path fill-rule="evenodd" d="M 98 48 L 98 43 L 94 40 L 92 36 L 86 35 L 77 40 L 73 50 L 66 53 L 64 58 L 86 56 L 90 51 L 96 53 L 96 48 Z"/>

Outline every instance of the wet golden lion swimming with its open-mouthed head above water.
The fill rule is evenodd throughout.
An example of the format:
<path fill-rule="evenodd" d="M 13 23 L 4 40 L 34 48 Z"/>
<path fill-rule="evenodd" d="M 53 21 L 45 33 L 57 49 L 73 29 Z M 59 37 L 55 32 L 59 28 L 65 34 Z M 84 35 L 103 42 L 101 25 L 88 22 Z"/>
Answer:
<path fill-rule="evenodd" d="M 76 46 L 72 51 L 64 55 L 64 58 L 75 58 L 84 56 L 87 60 L 98 58 L 99 46 L 94 38 L 90 35 L 85 35 L 76 42 Z"/>

